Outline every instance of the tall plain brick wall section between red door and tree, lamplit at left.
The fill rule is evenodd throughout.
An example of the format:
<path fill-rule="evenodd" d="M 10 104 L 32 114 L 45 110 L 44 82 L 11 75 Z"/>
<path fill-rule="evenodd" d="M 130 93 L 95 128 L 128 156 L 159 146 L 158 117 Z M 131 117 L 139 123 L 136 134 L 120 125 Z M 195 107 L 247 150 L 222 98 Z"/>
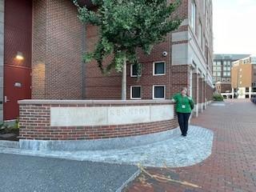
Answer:
<path fill-rule="evenodd" d="M 69 0 L 33 3 L 32 98 L 82 98 L 82 24 Z"/>

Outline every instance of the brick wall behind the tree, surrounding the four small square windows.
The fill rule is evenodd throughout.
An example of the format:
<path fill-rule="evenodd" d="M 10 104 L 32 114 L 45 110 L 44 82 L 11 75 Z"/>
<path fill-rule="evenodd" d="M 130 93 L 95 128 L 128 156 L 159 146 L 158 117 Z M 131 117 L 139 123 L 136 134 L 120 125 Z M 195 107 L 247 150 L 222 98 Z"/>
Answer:
<path fill-rule="evenodd" d="M 172 1 L 170 1 L 172 2 Z M 187 18 L 187 1 L 183 1 L 173 16 Z M 187 30 L 188 26 L 180 26 L 176 31 Z M 86 49 L 94 50 L 98 41 L 97 27 L 86 27 Z M 167 51 L 168 56 L 163 57 L 162 52 Z M 181 90 L 182 86 L 189 86 L 188 66 L 171 66 L 171 35 L 166 36 L 166 41 L 155 45 L 150 55 L 138 51 L 139 62 L 142 63 L 142 77 L 130 77 L 130 65 L 127 66 L 127 99 L 130 99 L 130 86 L 142 86 L 142 99 L 153 98 L 153 85 L 166 86 L 166 98 Z M 166 74 L 163 76 L 153 75 L 153 62 L 166 62 Z M 110 62 L 109 59 L 106 62 Z M 105 62 L 105 64 L 106 64 Z M 102 77 L 97 63 L 86 63 L 86 99 L 120 99 L 121 98 L 122 74 L 114 70 L 108 77 Z"/>

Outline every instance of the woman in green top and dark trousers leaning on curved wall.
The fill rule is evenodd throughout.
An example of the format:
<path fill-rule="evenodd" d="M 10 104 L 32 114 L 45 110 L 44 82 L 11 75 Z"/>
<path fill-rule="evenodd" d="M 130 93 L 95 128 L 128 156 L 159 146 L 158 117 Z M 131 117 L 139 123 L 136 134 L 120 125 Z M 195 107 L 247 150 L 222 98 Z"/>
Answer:
<path fill-rule="evenodd" d="M 176 102 L 178 124 L 182 131 L 182 136 L 186 137 L 190 114 L 194 108 L 194 101 L 187 95 L 186 87 L 182 88 L 181 93 L 175 94 L 173 99 Z"/>

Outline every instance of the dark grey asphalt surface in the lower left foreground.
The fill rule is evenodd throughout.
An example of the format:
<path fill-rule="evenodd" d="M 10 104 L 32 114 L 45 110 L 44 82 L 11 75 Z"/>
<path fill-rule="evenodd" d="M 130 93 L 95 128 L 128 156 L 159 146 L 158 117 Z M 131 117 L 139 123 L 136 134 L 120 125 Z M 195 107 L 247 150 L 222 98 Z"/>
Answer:
<path fill-rule="evenodd" d="M 1 154 L 1 192 L 117 191 L 138 168 L 101 162 Z"/>

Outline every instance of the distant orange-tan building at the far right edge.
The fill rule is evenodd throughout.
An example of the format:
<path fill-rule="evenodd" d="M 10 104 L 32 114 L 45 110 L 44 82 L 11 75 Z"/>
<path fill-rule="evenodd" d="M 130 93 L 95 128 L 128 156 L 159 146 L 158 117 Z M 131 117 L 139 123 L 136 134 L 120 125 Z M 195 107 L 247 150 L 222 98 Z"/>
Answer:
<path fill-rule="evenodd" d="M 256 95 L 256 56 L 233 62 L 231 86 L 234 97 L 251 98 Z"/>

